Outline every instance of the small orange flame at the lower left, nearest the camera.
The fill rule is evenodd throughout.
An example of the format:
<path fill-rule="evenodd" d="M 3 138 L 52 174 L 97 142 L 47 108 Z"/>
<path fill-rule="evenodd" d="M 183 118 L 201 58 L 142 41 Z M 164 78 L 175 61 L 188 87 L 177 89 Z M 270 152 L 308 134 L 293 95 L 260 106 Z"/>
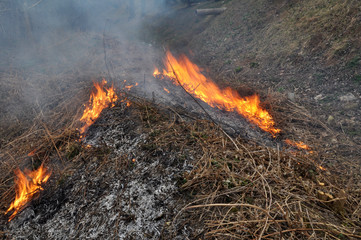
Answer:
<path fill-rule="evenodd" d="M 9 209 L 5 212 L 14 211 L 9 217 L 9 222 L 20 212 L 24 206 L 30 202 L 33 196 L 41 190 L 41 184 L 46 183 L 51 175 L 44 167 L 43 164 L 34 171 L 25 170 L 22 172 L 20 169 L 15 170 L 15 200 L 11 203 Z"/>

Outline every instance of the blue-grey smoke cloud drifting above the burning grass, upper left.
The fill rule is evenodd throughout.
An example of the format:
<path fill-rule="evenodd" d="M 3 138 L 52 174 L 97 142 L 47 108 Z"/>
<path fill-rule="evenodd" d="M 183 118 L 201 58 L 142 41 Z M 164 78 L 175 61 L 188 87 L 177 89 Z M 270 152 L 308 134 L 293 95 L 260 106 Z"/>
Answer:
<path fill-rule="evenodd" d="M 32 119 L 99 77 L 149 80 L 156 53 L 142 23 L 167 2 L 0 0 L 0 123 Z"/>

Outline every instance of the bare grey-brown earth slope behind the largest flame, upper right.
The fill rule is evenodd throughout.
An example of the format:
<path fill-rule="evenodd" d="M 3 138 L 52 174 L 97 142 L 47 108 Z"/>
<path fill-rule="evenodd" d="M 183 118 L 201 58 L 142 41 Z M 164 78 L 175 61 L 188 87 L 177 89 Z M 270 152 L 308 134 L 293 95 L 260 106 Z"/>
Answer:
<path fill-rule="evenodd" d="M 227 10 L 194 14 L 211 7 Z M 360 161 L 360 7 L 358 1 L 206 1 L 147 21 L 144 39 L 186 53 L 221 86 L 260 93 L 275 118 L 289 109 L 277 108 L 274 97 L 302 106 L 314 124 L 288 114 L 281 126 L 308 131 Z"/>

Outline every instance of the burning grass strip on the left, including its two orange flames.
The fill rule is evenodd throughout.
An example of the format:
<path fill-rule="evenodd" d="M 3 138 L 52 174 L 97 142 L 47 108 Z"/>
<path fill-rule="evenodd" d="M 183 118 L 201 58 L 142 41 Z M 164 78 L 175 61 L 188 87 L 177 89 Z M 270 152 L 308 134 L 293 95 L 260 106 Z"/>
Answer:
<path fill-rule="evenodd" d="M 27 132 L 5 145 L 4 152 L 10 156 L 9 161 L 4 161 L 1 165 L 5 170 L 7 168 L 14 170 L 17 166 L 24 165 L 31 165 L 32 169 L 36 169 L 40 164 L 40 167 L 34 171 L 26 169 L 23 172 L 18 168 L 14 170 L 16 196 L 5 211 L 5 215 L 11 213 L 8 221 L 14 219 L 35 196 L 38 196 L 40 190 L 44 190 L 42 184 L 46 183 L 50 177 L 49 171 L 43 167 L 44 162 L 55 164 L 57 175 L 63 175 L 64 170 L 61 169 L 68 166 L 67 161 L 80 153 L 82 148 L 80 140 L 84 137 L 84 132 L 97 120 L 105 108 L 115 106 L 118 96 L 114 87 L 107 88 L 105 84 L 104 79 L 101 83 L 94 83 L 95 91 L 91 93 L 89 104 L 85 106 L 81 117 L 79 116 L 80 108 L 76 109 L 76 106 L 79 107 L 80 104 L 78 97 L 75 95 L 67 99 L 63 96 L 63 101 L 58 99 L 61 104 L 47 111 L 46 115 L 44 113 L 38 115 Z M 127 106 L 129 105 L 125 96 L 122 95 L 119 102 L 123 101 Z M 74 102 L 79 104 L 74 104 Z M 69 114 L 62 114 L 65 112 Z M 83 127 L 78 130 L 75 127 L 79 126 L 80 122 L 83 123 Z M 23 147 L 19 148 L 19 145 Z M 5 158 L 5 155 L 1 154 L 0 157 Z M 9 176 L 8 171 L 6 172 L 2 180 L 9 183 L 12 177 Z M 4 202 L 8 201 L 11 196 L 9 193 L 13 190 L 13 186 L 9 187 L 9 191 L 1 196 Z"/>

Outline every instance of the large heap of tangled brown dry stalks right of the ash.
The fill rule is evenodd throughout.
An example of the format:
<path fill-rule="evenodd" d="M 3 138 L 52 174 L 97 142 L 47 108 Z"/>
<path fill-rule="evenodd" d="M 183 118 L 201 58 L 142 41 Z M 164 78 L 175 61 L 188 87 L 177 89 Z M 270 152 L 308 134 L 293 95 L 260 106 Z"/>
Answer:
<path fill-rule="evenodd" d="M 361 238 L 357 185 L 344 187 L 313 155 L 241 139 L 236 150 L 204 122 L 190 131 L 202 155 L 183 188 L 195 200 L 175 222 L 203 222 L 206 239 Z"/>

